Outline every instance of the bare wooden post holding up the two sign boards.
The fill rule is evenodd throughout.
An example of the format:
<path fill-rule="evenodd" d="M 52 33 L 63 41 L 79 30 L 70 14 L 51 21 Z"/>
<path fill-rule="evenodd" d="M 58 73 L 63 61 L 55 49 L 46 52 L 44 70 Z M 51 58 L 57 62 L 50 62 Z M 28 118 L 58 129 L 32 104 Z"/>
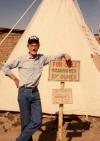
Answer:
<path fill-rule="evenodd" d="M 60 82 L 61 89 L 64 89 L 65 82 Z M 59 141 L 63 141 L 63 104 L 59 104 L 59 119 L 58 119 L 58 134 Z"/>

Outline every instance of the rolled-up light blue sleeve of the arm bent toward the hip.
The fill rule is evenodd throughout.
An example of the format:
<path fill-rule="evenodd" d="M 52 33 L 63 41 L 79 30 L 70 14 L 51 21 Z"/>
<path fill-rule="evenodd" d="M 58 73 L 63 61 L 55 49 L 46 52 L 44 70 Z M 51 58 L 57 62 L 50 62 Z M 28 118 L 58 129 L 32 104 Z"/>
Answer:
<path fill-rule="evenodd" d="M 4 75 L 12 74 L 11 69 L 18 67 L 19 62 L 20 58 L 18 57 L 10 63 L 3 64 L 1 70 L 4 73 Z"/>

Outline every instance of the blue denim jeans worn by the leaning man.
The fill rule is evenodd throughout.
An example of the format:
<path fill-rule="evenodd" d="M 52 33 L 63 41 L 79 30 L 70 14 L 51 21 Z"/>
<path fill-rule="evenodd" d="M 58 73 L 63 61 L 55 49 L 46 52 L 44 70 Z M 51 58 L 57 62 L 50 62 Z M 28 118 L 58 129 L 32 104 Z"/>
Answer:
<path fill-rule="evenodd" d="M 21 134 L 16 141 L 32 141 L 32 134 L 41 126 L 42 110 L 39 91 L 18 89 L 18 103 L 21 116 Z"/>

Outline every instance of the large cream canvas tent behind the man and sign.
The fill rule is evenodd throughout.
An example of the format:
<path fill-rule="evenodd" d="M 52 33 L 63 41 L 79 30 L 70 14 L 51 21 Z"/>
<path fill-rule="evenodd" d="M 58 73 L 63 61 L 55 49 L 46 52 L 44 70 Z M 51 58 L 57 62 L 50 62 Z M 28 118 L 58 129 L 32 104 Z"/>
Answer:
<path fill-rule="evenodd" d="M 91 53 L 100 54 L 100 46 L 87 27 L 73 0 L 43 0 L 7 62 L 27 53 L 29 36 L 40 38 L 39 53 L 68 53 L 80 61 L 80 81 L 66 82 L 72 88 L 73 104 L 64 105 L 64 114 L 100 116 L 100 73 Z M 52 89 L 60 82 L 48 81 L 48 65 L 39 83 L 43 113 L 55 114 L 58 104 L 52 104 Z M 18 70 L 12 72 L 18 76 Z M 18 89 L 14 82 L 0 73 L 0 110 L 19 111 Z"/>

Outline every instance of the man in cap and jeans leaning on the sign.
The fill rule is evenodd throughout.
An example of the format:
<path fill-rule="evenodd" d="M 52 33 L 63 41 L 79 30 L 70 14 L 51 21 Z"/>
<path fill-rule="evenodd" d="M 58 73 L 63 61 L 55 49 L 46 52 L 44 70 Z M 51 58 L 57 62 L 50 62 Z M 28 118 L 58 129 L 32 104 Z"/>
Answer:
<path fill-rule="evenodd" d="M 32 134 L 41 126 L 42 110 L 38 91 L 38 84 L 43 67 L 52 59 L 71 59 L 67 54 L 59 56 L 45 56 L 37 54 L 39 38 L 31 36 L 28 39 L 28 54 L 20 56 L 11 63 L 6 63 L 2 71 L 12 79 L 18 88 L 18 102 L 21 115 L 21 134 L 16 141 L 32 141 Z M 11 72 L 18 67 L 19 79 Z"/>

